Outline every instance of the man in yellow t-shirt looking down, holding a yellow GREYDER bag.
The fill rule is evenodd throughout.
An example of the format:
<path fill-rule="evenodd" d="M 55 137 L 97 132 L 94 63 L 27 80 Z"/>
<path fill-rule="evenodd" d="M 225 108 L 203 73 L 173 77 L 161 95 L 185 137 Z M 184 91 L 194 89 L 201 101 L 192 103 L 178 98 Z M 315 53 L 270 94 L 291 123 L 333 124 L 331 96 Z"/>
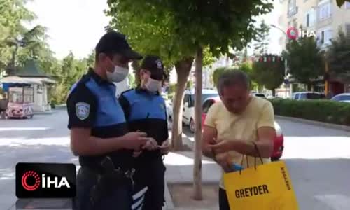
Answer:
<path fill-rule="evenodd" d="M 222 102 L 216 102 L 204 123 L 202 151 L 223 168 L 232 171 L 232 165 L 254 166 L 258 151 L 263 162 L 269 162 L 273 150 L 274 110 L 265 99 L 249 93 L 249 79 L 243 71 L 227 71 L 218 80 Z M 255 148 L 256 146 L 256 148 Z M 248 164 L 247 164 L 248 161 Z M 256 161 L 261 164 L 260 161 Z M 221 179 L 219 190 L 220 210 L 230 209 Z"/>

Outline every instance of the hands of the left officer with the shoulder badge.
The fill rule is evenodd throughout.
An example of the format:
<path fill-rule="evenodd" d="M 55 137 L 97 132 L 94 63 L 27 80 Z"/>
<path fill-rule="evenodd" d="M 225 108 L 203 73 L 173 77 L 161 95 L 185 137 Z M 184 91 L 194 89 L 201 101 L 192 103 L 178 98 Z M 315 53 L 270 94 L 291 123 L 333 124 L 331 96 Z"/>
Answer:
<path fill-rule="evenodd" d="M 140 151 L 149 139 L 146 136 L 145 132 L 129 132 L 125 134 L 123 137 L 124 148 Z"/>

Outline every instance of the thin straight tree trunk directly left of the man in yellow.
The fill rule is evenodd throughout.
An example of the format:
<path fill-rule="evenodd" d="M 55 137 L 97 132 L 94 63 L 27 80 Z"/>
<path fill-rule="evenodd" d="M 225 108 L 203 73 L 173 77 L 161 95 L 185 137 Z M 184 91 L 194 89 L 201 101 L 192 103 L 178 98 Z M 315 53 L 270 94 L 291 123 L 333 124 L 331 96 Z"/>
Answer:
<path fill-rule="evenodd" d="M 193 198 L 195 200 L 202 200 L 202 48 L 197 49 L 195 62 L 195 165 L 193 167 Z"/>

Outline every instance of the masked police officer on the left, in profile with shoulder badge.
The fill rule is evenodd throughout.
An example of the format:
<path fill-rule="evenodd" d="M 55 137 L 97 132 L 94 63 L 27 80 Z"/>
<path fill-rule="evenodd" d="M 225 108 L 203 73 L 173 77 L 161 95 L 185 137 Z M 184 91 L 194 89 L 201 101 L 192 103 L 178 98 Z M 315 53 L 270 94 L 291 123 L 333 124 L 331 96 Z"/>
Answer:
<path fill-rule="evenodd" d="M 75 209 L 130 210 L 132 152 L 149 140 L 128 132 L 116 86 L 128 74 L 132 59 L 141 59 L 116 31 L 107 32 L 95 48 L 95 66 L 73 87 L 67 99 L 71 150 L 79 156 Z"/>

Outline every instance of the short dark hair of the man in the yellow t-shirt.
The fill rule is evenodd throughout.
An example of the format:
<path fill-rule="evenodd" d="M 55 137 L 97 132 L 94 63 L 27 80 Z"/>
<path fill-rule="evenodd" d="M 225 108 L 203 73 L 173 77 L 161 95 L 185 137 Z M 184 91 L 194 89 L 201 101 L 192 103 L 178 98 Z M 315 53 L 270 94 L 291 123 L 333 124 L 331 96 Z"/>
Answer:
<path fill-rule="evenodd" d="M 241 85 L 249 90 L 250 84 L 250 79 L 244 71 L 228 69 L 218 78 L 218 92 L 222 94 L 224 87 L 232 85 Z"/>

